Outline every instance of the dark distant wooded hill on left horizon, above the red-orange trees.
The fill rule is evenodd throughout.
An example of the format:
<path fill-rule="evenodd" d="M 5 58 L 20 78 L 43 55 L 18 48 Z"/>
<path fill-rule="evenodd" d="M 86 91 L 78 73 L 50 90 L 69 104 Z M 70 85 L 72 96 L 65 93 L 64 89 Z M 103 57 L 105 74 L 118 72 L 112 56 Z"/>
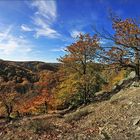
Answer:
<path fill-rule="evenodd" d="M 21 90 L 14 89 L 17 84 L 23 83 L 24 81 L 29 84 L 34 84 L 39 81 L 39 74 L 42 71 L 55 72 L 57 71 L 58 65 L 57 63 L 39 61 L 14 62 L 0 60 L 0 92 L 3 92 L 5 86 L 7 86 L 7 92 L 9 92 L 9 85 L 9 87 L 12 88 L 11 91 L 22 93 Z M 12 87 L 10 85 L 12 85 Z M 29 91 L 27 90 L 26 92 Z"/>

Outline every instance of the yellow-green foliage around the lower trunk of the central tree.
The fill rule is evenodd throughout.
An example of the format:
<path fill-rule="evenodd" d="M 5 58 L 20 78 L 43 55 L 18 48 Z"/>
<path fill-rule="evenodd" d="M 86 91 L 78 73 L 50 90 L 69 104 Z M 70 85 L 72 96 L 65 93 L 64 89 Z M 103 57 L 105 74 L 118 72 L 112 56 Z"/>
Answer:
<path fill-rule="evenodd" d="M 64 106 L 78 107 L 85 103 L 85 96 L 86 103 L 88 103 L 93 100 L 94 94 L 101 90 L 102 84 L 105 83 L 101 74 L 101 66 L 89 63 L 87 67 L 86 74 L 69 73 L 57 86 L 55 93 Z"/>

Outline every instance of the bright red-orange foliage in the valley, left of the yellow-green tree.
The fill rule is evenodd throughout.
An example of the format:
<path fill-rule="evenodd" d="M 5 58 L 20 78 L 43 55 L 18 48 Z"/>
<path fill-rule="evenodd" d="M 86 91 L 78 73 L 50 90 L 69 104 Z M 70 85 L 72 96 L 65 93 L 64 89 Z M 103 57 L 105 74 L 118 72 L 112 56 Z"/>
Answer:
<path fill-rule="evenodd" d="M 57 72 L 43 70 L 39 72 L 39 77 L 39 81 L 34 83 L 33 93 L 22 95 L 23 104 L 18 104 L 19 111 L 23 114 L 47 113 L 54 107 L 52 90 L 59 82 L 59 75 Z"/>

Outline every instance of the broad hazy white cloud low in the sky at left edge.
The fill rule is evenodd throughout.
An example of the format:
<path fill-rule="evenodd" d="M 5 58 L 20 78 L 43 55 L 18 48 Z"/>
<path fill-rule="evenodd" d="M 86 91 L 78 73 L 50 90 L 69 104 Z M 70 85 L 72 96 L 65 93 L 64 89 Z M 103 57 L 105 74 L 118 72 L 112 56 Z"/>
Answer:
<path fill-rule="evenodd" d="M 12 26 L 9 26 L 6 30 L 0 32 L 0 54 L 22 56 L 31 52 L 33 45 L 24 38 L 12 35 L 11 30 Z"/>

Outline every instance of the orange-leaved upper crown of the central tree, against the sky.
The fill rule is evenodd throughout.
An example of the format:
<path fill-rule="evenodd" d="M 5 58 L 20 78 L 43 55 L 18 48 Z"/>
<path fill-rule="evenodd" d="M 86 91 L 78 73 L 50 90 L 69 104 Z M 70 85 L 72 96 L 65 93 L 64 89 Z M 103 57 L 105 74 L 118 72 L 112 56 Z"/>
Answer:
<path fill-rule="evenodd" d="M 92 60 L 95 55 L 96 50 L 100 49 L 99 38 L 97 35 L 91 37 L 89 34 L 79 35 L 78 40 L 72 45 L 67 47 L 67 52 L 69 54 L 65 57 L 59 59 L 62 63 L 78 62 Z"/>

